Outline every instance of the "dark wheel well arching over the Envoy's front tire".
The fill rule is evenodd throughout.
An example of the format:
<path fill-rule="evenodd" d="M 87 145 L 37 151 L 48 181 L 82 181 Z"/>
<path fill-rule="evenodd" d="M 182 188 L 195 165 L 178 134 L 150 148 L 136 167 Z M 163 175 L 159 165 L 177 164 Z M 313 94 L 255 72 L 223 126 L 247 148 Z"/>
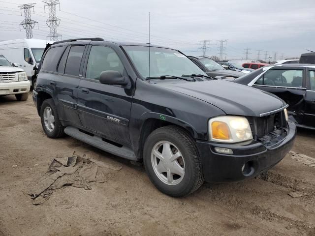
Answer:
<path fill-rule="evenodd" d="M 156 119 L 156 118 L 149 118 L 146 119 L 144 124 L 142 125 L 141 128 L 141 133 L 140 133 L 140 140 L 139 140 L 139 151 L 138 151 L 138 156 L 142 159 L 142 153 L 143 153 L 143 147 L 144 147 L 144 143 L 147 140 L 148 136 L 156 129 L 163 127 L 163 126 L 167 126 L 167 125 L 176 125 L 178 127 L 181 127 L 183 129 L 185 129 L 189 135 L 191 137 L 193 137 L 193 131 L 186 129 L 180 125 L 168 122 L 168 121 L 164 121 L 164 120 L 160 120 L 160 119 Z"/>

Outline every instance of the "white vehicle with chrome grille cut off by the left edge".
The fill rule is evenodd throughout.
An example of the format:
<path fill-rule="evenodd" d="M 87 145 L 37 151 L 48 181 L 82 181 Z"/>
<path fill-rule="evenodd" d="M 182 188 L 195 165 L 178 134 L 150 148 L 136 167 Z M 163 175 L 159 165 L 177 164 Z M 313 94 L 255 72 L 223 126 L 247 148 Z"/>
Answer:
<path fill-rule="evenodd" d="M 31 82 L 22 68 L 14 67 L 0 55 L 0 96 L 14 94 L 18 101 L 29 97 Z"/>

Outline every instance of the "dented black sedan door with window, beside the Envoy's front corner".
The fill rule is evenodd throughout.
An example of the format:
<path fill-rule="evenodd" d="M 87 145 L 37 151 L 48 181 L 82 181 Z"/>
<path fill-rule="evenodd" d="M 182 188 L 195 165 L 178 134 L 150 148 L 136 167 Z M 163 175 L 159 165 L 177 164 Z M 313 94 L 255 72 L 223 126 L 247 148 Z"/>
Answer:
<path fill-rule="evenodd" d="M 297 123 L 303 121 L 306 96 L 305 67 L 279 66 L 267 70 L 252 87 L 271 92 L 288 105 Z"/>

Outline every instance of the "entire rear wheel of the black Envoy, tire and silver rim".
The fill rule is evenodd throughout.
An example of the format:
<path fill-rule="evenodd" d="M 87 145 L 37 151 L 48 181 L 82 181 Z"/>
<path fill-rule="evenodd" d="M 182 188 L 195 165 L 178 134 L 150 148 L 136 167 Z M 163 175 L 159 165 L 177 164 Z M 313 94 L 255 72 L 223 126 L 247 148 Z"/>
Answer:
<path fill-rule="evenodd" d="M 64 135 L 53 99 L 46 99 L 40 108 L 40 119 L 43 130 L 49 138 L 59 138 Z"/>

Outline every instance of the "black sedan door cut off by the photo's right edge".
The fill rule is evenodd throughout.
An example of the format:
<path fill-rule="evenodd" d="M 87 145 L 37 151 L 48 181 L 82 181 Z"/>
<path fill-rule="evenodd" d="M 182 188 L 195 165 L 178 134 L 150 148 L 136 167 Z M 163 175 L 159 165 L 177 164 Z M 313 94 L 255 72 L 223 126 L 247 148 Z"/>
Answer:
<path fill-rule="evenodd" d="M 315 128 L 315 68 L 308 69 L 306 107 L 303 124 Z"/>

